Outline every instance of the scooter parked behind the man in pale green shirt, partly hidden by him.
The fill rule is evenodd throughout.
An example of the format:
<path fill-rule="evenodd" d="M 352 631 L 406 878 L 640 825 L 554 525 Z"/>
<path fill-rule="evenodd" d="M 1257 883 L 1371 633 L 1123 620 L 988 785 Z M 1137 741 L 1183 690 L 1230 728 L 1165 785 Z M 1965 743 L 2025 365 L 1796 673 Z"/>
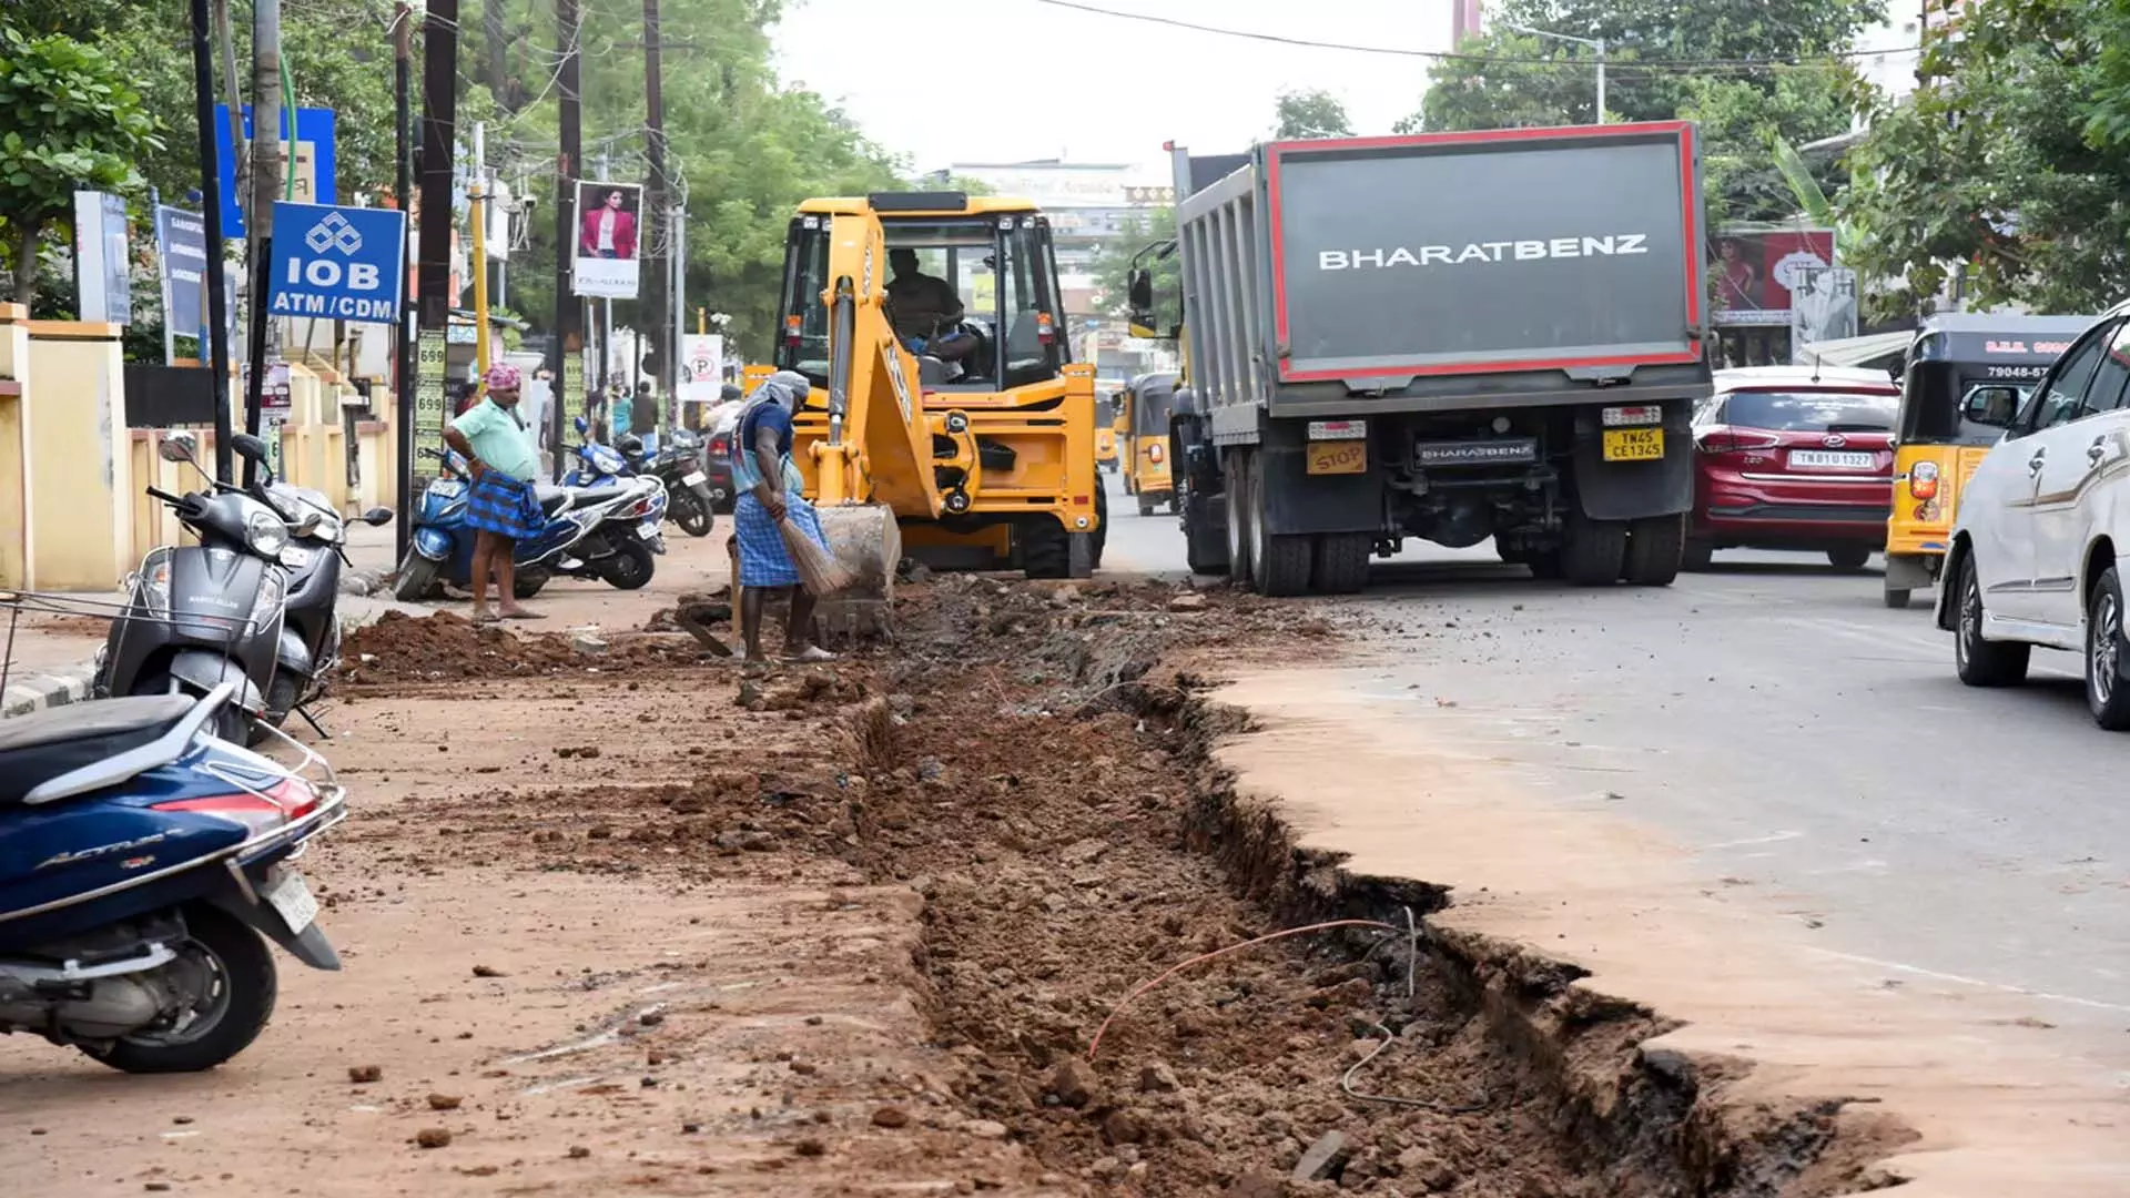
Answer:
<path fill-rule="evenodd" d="M 594 446 L 605 450 L 605 446 Z M 437 595 L 441 580 L 466 586 L 473 578 L 473 529 L 466 527 L 466 486 L 471 469 L 454 450 L 424 450 L 443 463 L 415 507 L 413 544 L 400 561 L 392 595 L 403 603 L 420 603 Z M 613 454 L 613 450 L 605 450 Z M 613 454 L 620 460 L 620 454 Z M 665 552 L 667 495 L 656 477 L 620 477 L 605 486 L 539 486 L 535 488 L 547 522 L 532 537 L 518 541 L 515 595 L 530 599 L 547 580 L 594 578 L 635 590 L 652 580 L 658 554 Z"/>

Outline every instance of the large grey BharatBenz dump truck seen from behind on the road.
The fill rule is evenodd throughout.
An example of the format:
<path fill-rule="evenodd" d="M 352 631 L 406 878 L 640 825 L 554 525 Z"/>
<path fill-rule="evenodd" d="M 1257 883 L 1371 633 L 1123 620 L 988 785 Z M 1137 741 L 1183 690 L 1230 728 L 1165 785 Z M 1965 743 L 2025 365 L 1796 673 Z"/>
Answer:
<path fill-rule="evenodd" d="M 1676 578 L 1713 392 L 1691 124 L 1172 153 L 1193 569 L 1353 593 L 1406 537 L 1491 537 L 1540 578 Z M 1163 330 L 1150 264 L 1131 307 Z"/>

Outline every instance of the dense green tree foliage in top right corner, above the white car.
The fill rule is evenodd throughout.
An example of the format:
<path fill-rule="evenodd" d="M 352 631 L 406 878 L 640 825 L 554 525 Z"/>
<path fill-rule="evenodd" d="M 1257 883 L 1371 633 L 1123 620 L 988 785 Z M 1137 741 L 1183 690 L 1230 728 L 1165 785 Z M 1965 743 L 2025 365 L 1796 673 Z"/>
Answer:
<path fill-rule="evenodd" d="M 1855 264 L 1883 315 L 1966 266 L 1981 305 L 2098 311 L 2130 277 L 2130 11 L 1996 0 L 1926 43 L 1921 85 L 1851 153 Z"/>

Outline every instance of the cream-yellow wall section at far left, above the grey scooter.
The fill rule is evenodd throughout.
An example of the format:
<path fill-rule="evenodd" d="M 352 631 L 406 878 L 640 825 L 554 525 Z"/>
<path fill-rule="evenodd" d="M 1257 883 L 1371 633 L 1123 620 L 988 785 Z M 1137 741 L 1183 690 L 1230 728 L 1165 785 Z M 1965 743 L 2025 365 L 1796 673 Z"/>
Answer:
<path fill-rule="evenodd" d="M 132 567 L 132 454 L 119 326 L 30 322 L 28 584 L 111 590 Z"/>

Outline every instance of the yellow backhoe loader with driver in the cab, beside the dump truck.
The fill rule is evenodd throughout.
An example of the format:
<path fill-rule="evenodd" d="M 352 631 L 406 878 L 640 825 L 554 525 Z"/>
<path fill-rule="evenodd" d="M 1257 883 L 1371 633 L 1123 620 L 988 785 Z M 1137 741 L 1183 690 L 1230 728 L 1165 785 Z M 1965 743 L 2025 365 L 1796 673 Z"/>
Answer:
<path fill-rule="evenodd" d="M 1097 565 L 1095 369 L 1071 362 L 1035 205 L 961 192 L 803 203 L 775 367 L 816 388 L 792 458 L 824 522 L 884 505 L 903 552 L 935 569 L 1084 578 Z"/>

